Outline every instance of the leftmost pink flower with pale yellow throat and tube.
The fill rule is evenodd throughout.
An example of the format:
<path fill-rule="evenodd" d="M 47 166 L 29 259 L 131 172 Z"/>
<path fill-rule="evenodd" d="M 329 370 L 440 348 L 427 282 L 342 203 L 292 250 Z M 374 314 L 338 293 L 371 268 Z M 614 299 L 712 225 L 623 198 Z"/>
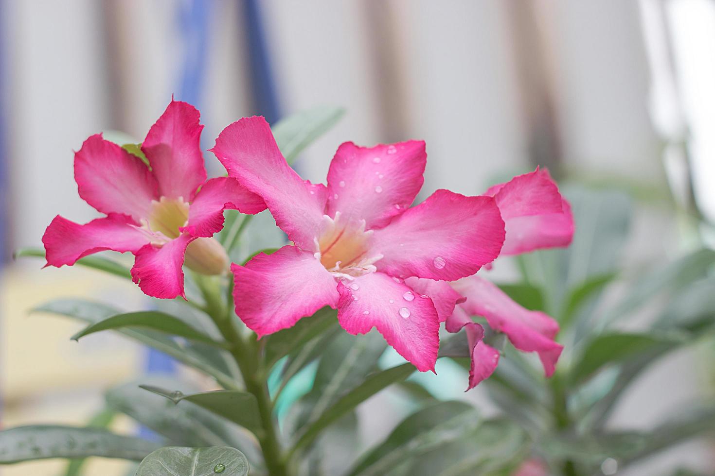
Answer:
<path fill-rule="evenodd" d="M 228 258 L 210 237 L 223 228 L 223 211 L 257 213 L 265 203 L 235 178 L 207 181 L 202 128 L 199 111 L 172 100 L 142 143 L 149 166 L 102 134 L 84 141 L 74 154 L 79 196 L 107 216 L 84 225 L 56 216 L 42 237 L 47 265 L 129 251 L 134 283 L 147 295 L 169 299 L 184 296 L 184 257 L 199 272 L 222 273 Z"/>

